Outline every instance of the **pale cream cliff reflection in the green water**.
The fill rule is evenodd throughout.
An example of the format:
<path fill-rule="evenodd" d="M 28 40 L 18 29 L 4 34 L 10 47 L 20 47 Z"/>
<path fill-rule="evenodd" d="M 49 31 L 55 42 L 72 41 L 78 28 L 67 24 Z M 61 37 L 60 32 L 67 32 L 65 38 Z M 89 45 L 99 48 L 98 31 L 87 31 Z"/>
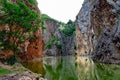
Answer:
<path fill-rule="evenodd" d="M 94 80 L 94 63 L 89 57 L 77 57 L 77 71 L 80 80 Z"/>

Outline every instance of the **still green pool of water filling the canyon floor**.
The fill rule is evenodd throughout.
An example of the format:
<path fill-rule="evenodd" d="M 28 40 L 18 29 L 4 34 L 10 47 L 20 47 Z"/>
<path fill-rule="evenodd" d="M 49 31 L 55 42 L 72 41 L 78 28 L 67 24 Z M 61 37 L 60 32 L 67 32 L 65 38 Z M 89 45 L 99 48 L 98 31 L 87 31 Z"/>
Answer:
<path fill-rule="evenodd" d="M 94 63 L 89 57 L 44 57 L 23 65 L 47 80 L 120 80 L 120 65 Z"/>

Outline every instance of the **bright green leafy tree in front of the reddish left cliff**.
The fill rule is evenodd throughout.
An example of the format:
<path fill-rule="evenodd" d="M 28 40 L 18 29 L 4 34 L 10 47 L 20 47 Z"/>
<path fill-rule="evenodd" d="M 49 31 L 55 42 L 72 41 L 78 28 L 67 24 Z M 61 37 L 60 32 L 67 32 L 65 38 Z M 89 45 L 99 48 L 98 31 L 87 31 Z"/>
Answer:
<path fill-rule="evenodd" d="M 29 0 L 30 3 L 34 3 L 34 1 Z M 2 24 L 8 24 L 8 26 L 3 25 L 3 30 L 0 31 L 0 49 L 2 47 L 4 50 L 18 50 L 18 43 L 30 39 L 31 33 L 38 29 L 40 25 L 39 15 L 22 0 L 18 0 L 16 4 L 4 0 L 1 11 L 5 12 L 2 16 L 4 17 Z M 13 38 L 14 42 L 11 42 L 10 38 Z"/>

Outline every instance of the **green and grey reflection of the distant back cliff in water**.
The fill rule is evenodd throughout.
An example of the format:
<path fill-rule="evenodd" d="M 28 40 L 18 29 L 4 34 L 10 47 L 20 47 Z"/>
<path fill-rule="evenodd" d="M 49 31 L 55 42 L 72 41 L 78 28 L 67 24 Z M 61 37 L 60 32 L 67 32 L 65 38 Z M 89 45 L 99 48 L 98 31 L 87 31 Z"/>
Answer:
<path fill-rule="evenodd" d="M 78 80 L 75 57 L 46 58 L 44 66 L 49 80 Z"/>

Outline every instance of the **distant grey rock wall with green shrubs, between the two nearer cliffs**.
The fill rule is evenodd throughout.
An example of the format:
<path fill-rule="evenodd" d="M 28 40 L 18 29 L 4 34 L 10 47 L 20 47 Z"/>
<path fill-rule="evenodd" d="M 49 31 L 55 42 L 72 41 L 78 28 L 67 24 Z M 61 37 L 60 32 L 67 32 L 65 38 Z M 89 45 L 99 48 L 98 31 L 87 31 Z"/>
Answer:
<path fill-rule="evenodd" d="M 46 47 L 44 54 L 49 56 L 74 55 L 74 31 L 75 25 L 72 21 L 69 24 L 64 24 L 52 19 L 45 20 L 43 40 Z"/>

